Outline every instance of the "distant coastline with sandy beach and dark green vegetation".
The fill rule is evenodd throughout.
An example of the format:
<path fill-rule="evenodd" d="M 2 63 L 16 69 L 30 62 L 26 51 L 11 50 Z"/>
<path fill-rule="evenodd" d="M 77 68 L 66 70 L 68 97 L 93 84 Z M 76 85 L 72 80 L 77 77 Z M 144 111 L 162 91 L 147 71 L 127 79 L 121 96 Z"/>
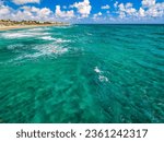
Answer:
<path fill-rule="evenodd" d="M 0 20 L 0 31 L 16 29 L 16 28 L 31 28 L 40 26 L 65 26 L 69 23 L 62 22 L 39 22 L 39 21 L 11 21 Z"/>

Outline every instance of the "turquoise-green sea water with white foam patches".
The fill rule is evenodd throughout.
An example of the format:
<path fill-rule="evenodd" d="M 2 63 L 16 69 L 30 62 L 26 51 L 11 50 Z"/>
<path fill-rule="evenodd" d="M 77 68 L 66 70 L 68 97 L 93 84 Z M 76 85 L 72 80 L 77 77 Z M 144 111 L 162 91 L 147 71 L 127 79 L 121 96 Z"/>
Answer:
<path fill-rule="evenodd" d="M 164 122 L 164 25 L 0 32 L 0 122 Z"/>

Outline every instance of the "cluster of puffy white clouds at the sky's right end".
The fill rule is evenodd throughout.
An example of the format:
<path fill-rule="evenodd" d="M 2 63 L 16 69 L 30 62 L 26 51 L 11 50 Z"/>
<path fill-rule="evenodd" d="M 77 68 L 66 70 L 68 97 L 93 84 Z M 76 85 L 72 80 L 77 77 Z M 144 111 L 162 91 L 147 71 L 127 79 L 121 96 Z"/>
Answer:
<path fill-rule="evenodd" d="M 118 4 L 118 3 L 117 3 Z M 139 10 L 132 3 L 120 3 L 116 8 L 120 19 L 132 17 L 133 20 L 152 20 L 153 17 L 164 17 L 164 2 L 155 0 L 142 0 Z"/>

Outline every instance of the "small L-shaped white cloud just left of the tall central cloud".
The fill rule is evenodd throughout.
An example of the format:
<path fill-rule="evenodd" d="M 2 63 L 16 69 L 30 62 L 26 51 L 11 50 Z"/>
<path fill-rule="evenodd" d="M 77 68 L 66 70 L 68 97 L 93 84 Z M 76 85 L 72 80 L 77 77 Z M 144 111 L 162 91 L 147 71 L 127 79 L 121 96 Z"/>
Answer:
<path fill-rule="evenodd" d="M 56 11 L 55 14 L 57 17 L 73 17 L 74 16 L 74 12 L 73 10 L 70 11 L 61 11 L 60 5 L 56 5 Z"/>

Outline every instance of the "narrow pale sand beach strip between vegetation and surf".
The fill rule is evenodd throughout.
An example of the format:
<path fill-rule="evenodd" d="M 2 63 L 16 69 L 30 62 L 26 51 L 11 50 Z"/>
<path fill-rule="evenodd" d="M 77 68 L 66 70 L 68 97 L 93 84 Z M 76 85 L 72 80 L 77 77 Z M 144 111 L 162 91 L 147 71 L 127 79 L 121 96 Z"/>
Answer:
<path fill-rule="evenodd" d="M 68 26 L 69 24 L 45 24 L 45 25 L 13 25 L 13 26 L 0 26 L 1 31 L 10 29 L 21 29 L 21 28 L 32 28 L 32 27 L 42 27 L 42 26 Z"/>

